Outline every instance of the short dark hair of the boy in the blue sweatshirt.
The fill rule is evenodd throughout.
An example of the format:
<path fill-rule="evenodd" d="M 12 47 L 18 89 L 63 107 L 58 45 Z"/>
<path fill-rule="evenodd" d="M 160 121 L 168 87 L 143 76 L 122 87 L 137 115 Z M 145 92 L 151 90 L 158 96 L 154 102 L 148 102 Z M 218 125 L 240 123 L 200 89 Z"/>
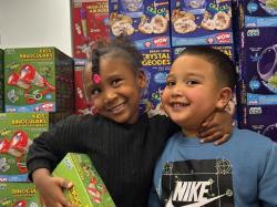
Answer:
<path fill-rule="evenodd" d="M 207 62 L 214 65 L 218 83 L 232 90 L 235 89 L 237 74 L 234 63 L 228 55 L 219 50 L 204 45 L 187 46 L 178 54 L 178 58 L 186 54 L 203 56 Z"/>

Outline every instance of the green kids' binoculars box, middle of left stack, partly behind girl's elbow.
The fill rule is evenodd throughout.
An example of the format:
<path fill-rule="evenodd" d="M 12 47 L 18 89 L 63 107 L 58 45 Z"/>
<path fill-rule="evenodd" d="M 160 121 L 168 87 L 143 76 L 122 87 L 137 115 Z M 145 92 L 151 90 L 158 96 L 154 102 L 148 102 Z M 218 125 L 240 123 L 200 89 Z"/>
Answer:
<path fill-rule="evenodd" d="M 0 182 L 28 182 L 29 146 L 48 130 L 48 113 L 0 114 Z"/>

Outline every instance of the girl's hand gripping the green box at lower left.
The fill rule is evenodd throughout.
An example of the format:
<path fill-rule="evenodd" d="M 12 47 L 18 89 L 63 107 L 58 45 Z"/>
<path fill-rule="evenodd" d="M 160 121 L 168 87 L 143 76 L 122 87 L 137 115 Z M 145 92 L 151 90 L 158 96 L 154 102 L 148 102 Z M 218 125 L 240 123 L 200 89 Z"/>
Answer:
<path fill-rule="evenodd" d="M 48 170 L 48 169 L 37 169 Z M 62 177 L 51 177 L 48 173 L 33 173 L 33 183 L 40 192 L 43 205 L 47 207 L 73 207 L 63 195 L 63 189 L 73 187 L 72 183 L 66 182 Z M 37 175 L 35 175 L 37 174 Z M 35 176 L 34 176 L 35 175 Z"/>

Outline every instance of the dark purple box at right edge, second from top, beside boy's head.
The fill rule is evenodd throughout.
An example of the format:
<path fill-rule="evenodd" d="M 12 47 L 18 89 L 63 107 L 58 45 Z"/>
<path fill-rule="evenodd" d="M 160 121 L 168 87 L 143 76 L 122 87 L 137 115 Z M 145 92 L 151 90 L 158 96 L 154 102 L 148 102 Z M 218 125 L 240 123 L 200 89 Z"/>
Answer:
<path fill-rule="evenodd" d="M 246 104 L 277 104 L 277 30 L 246 29 L 240 34 L 239 73 L 246 84 Z"/>

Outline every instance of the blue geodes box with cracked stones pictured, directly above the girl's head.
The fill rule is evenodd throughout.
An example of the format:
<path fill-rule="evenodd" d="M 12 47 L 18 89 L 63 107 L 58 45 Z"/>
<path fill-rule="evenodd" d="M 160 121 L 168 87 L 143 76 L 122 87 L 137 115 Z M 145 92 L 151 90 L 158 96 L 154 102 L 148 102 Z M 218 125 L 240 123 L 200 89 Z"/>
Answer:
<path fill-rule="evenodd" d="M 111 37 L 127 35 L 138 49 L 170 48 L 168 0 L 110 0 Z"/>

